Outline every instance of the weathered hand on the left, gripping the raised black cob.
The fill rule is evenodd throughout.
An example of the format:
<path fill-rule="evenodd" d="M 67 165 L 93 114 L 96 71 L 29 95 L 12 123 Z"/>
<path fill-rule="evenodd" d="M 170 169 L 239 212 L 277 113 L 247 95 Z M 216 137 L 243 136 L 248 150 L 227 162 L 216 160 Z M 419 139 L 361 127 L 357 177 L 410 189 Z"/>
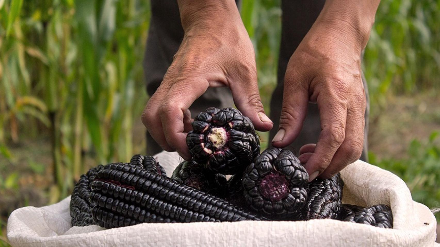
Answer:
<path fill-rule="evenodd" d="M 268 131 L 273 126 L 258 92 L 252 43 L 235 2 L 230 2 L 229 8 L 210 6 L 193 11 L 189 9 L 197 2 L 188 9 L 184 5 L 189 2 L 179 2 L 185 35 L 143 111 L 142 122 L 154 140 L 186 160 L 191 158 L 185 141 L 192 129 L 188 108 L 208 87 L 229 87 L 236 107 L 257 130 Z"/>

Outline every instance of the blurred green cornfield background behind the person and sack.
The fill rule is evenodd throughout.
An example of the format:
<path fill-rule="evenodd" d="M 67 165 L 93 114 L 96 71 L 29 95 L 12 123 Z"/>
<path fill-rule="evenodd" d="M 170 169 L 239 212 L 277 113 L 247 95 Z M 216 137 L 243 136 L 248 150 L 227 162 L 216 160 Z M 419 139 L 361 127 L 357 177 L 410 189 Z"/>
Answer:
<path fill-rule="evenodd" d="M 242 3 L 265 106 L 279 4 Z M 440 0 L 382 0 L 363 63 L 370 162 L 431 208 L 440 206 L 439 16 Z M 147 0 L 0 0 L 0 247 L 15 208 L 54 203 L 91 166 L 144 153 L 149 19 Z"/>

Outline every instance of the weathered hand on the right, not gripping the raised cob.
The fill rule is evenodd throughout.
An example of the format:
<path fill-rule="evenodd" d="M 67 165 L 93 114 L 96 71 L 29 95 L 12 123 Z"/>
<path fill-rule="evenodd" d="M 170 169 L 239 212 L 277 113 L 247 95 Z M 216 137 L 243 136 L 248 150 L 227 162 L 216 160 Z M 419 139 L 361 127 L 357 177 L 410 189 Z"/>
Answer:
<path fill-rule="evenodd" d="M 279 132 L 272 144 L 292 143 L 301 131 L 308 102 L 317 103 L 322 129 L 318 143 L 301 150 L 308 153 L 301 158 L 310 180 L 318 175 L 330 178 L 363 150 L 366 98 L 360 63 L 366 40 L 347 30 L 318 19 L 286 70 Z"/>

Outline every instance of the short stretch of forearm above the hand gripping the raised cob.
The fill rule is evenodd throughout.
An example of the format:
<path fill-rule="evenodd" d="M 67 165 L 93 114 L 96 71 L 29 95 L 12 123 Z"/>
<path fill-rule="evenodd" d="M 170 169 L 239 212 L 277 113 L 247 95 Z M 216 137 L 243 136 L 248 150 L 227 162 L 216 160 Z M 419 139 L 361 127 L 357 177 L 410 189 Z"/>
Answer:
<path fill-rule="evenodd" d="M 240 17 L 234 0 L 177 0 L 185 32 L 194 25 L 216 25 Z"/>

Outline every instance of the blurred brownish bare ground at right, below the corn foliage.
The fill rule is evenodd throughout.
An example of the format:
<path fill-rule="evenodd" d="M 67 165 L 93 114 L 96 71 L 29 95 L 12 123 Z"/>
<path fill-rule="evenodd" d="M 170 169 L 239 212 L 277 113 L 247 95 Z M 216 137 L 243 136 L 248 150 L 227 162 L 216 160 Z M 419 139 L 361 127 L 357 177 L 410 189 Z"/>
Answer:
<path fill-rule="evenodd" d="M 373 109 L 369 151 L 381 158 L 405 158 L 412 140 L 427 140 L 440 131 L 440 97 L 434 93 L 389 97 L 386 107 Z"/>

